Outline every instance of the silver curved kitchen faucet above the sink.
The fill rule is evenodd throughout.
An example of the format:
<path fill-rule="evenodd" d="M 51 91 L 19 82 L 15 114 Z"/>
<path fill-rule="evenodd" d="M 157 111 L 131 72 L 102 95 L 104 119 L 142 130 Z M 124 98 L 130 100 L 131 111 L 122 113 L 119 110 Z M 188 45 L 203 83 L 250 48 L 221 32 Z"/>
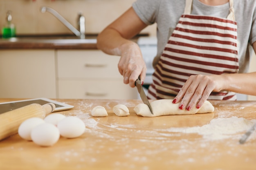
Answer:
<path fill-rule="evenodd" d="M 79 13 L 79 18 L 78 18 L 78 26 L 79 26 L 79 31 L 72 25 L 70 24 L 63 16 L 61 16 L 57 11 L 50 7 L 41 7 L 40 10 L 42 13 L 45 13 L 48 11 L 49 13 L 52 13 L 58 20 L 60 20 L 65 26 L 67 26 L 70 31 L 72 31 L 76 36 L 80 37 L 81 39 L 85 39 L 85 18 L 82 15 L 82 13 Z"/>

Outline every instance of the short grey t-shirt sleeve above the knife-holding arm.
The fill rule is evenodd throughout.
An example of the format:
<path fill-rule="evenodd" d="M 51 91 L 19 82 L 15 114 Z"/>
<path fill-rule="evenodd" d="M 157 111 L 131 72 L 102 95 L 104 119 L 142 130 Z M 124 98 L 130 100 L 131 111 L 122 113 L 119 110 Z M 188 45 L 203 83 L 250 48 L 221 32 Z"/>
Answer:
<path fill-rule="evenodd" d="M 160 0 L 137 0 L 132 4 L 139 18 L 147 25 L 154 24 Z"/>

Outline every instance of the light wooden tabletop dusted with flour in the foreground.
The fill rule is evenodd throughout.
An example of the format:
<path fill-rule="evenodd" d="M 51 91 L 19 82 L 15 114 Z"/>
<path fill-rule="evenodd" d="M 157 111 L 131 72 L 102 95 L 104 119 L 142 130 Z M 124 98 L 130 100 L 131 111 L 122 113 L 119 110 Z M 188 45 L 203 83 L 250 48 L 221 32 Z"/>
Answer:
<path fill-rule="evenodd" d="M 14 99 L 0 102 L 10 100 Z M 216 109 L 214 113 L 149 118 L 133 111 L 140 100 L 56 100 L 75 106 L 60 113 L 81 118 L 85 133 L 76 139 L 61 137 L 52 147 L 40 147 L 19 135 L 11 136 L 0 141 L 0 170 L 256 169 L 256 132 L 243 145 L 238 140 L 245 130 L 217 134 L 224 135 L 223 139 L 198 133 L 205 131 L 203 128 L 211 125 L 212 120 L 242 117 L 254 121 L 256 101 L 210 101 Z M 128 106 L 130 115 L 115 115 L 112 108 L 116 104 Z M 98 105 L 106 108 L 108 117 L 90 115 Z M 198 132 L 189 133 L 195 128 Z"/>

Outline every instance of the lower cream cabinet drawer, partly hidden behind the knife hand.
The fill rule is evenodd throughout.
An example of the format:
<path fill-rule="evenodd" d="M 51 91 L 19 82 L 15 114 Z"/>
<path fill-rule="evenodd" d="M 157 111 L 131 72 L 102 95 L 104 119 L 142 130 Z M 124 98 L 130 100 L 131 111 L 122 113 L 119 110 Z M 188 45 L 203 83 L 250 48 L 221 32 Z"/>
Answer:
<path fill-rule="evenodd" d="M 65 80 L 59 85 L 60 99 L 137 99 L 137 89 L 121 80 Z"/>

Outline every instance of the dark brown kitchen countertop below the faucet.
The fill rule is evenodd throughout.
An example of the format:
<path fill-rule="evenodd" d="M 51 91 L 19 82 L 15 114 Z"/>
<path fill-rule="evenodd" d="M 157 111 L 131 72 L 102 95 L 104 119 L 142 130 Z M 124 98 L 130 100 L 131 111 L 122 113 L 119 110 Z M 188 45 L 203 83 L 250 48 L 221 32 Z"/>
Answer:
<path fill-rule="evenodd" d="M 85 39 L 74 35 L 19 35 L 15 38 L 0 38 L 0 49 L 97 49 L 97 35 L 87 34 Z M 136 35 L 132 41 L 137 41 Z"/>

